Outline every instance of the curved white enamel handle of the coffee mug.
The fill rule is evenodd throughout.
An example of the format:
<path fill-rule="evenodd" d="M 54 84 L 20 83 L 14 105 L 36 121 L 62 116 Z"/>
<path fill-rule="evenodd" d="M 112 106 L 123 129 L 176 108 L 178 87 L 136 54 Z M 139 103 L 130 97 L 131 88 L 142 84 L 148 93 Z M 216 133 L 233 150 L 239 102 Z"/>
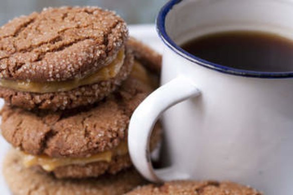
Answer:
<path fill-rule="evenodd" d="M 134 166 L 148 180 L 170 180 L 176 174 L 172 167 L 155 170 L 152 166 L 150 137 L 156 121 L 169 107 L 199 94 L 191 80 L 178 76 L 151 93 L 133 112 L 128 128 L 128 150 Z"/>

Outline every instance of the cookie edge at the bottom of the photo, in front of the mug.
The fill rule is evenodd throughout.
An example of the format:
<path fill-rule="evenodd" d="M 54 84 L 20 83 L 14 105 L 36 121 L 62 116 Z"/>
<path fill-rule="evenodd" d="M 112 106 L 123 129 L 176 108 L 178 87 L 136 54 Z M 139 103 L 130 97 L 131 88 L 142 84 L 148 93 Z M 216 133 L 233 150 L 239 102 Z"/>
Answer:
<path fill-rule="evenodd" d="M 261 195 L 262 193 L 248 186 L 224 181 L 170 181 L 162 185 L 149 184 L 139 186 L 127 195 Z"/>

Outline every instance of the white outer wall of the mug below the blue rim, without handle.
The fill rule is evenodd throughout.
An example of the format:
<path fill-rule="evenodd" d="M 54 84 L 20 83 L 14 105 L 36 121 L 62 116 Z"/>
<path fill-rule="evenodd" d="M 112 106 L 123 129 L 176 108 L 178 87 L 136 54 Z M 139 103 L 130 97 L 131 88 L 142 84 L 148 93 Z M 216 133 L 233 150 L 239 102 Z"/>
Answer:
<path fill-rule="evenodd" d="M 163 114 L 168 163 L 192 179 L 292 194 L 293 80 L 223 74 L 170 48 L 163 61 L 162 84 L 183 74 L 201 91 Z"/>

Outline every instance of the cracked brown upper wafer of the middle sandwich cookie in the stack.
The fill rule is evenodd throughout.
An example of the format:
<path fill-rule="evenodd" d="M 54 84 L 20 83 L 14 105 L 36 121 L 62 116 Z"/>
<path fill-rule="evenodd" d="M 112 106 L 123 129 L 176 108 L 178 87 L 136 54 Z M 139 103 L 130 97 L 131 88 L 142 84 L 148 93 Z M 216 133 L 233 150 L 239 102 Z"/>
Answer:
<path fill-rule="evenodd" d="M 110 150 L 125 141 L 132 112 L 152 90 L 130 75 L 116 92 L 88 107 L 48 112 L 5 105 L 2 134 L 34 155 L 85 157 Z"/>

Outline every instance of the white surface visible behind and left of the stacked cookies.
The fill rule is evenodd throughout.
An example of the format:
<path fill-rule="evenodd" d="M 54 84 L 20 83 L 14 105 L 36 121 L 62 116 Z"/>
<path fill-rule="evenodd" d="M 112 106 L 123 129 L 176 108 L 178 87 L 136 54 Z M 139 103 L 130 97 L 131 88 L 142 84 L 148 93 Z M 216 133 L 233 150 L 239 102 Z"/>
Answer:
<path fill-rule="evenodd" d="M 162 52 L 162 43 L 159 39 L 154 24 L 142 24 L 142 25 L 130 25 L 129 26 L 130 35 L 141 40 L 145 44 L 150 45 L 152 48 L 158 52 Z M 0 107 L 4 104 L 3 99 L 0 99 Z M 0 194 L 10 195 L 10 191 L 5 183 L 2 175 L 2 162 L 6 155 L 6 152 L 10 148 L 10 145 L 5 141 L 5 139 L 0 136 Z"/>

